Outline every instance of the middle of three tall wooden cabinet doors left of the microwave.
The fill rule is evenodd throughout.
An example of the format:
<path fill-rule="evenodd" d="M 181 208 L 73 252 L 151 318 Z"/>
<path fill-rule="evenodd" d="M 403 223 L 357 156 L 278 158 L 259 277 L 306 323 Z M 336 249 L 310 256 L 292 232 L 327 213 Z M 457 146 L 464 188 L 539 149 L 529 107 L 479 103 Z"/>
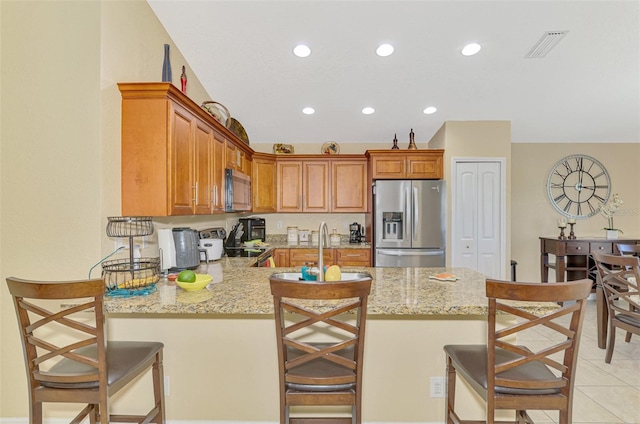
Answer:
<path fill-rule="evenodd" d="M 211 188 L 213 187 L 213 129 L 196 120 L 195 125 L 195 213 L 211 213 Z"/>

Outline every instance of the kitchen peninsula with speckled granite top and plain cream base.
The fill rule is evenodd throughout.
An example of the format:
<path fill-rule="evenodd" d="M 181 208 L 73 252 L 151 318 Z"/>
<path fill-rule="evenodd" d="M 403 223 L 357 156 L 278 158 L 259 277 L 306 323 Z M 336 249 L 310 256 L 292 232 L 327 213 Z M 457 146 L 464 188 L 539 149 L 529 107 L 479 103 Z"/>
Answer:
<path fill-rule="evenodd" d="M 163 304 L 160 293 L 108 298 L 110 337 L 120 331 L 165 343 L 170 378 L 168 419 L 278 420 L 277 361 L 268 277 L 299 268 L 247 267 L 251 259 L 222 258 L 199 272 L 208 288 Z M 432 398 L 430 378 L 444 377 L 442 346 L 486 339 L 485 278 L 464 268 L 459 278 L 429 276 L 443 268 L 361 268 L 373 277 L 364 363 L 365 422 L 440 422 L 444 399 Z M 541 304 L 541 308 L 552 306 Z M 189 404 L 210 405 L 207 414 Z M 475 402 L 471 402 L 475 403 Z M 470 410 L 479 409 L 470 405 Z M 202 409 L 200 409 L 202 410 Z"/>

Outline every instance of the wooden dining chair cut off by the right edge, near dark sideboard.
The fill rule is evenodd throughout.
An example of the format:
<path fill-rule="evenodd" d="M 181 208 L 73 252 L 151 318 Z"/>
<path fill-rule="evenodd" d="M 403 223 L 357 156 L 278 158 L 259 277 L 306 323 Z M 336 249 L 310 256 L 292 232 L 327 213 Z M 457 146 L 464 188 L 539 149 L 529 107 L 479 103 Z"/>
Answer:
<path fill-rule="evenodd" d="M 608 319 L 607 353 L 604 361 L 609 364 L 616 343 L 616 328 L 626 331 L 625 341 L 632 334 L 640 334 L 640 258 L 592 252 L 596 263 L 597 284 L 601 285 Z"/>

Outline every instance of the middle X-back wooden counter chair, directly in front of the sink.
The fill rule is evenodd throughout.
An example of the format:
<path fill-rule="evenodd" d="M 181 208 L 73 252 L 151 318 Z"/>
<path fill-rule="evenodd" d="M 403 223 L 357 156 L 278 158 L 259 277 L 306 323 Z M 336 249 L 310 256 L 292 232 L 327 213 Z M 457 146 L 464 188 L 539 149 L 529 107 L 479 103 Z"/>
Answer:
<path fill-rule="evenodd" d="M 342 282 L 270 279 L 280 423 L 362 422 L 362 358 L 371 278 Z M 291 417 L 291 406 L 351 406 L 350 417 Z"/>

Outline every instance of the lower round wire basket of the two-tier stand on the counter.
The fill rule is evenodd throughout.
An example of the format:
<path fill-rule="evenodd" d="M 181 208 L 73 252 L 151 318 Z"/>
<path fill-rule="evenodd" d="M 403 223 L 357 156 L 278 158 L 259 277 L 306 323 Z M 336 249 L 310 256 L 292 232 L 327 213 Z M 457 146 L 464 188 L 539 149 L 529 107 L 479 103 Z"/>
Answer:
<path fill-rule="evenodd" d="M 160 258 L 114 259 L 102 263 L 102 278 L 109 291 L 141 289 L 158 282 Z"/>

